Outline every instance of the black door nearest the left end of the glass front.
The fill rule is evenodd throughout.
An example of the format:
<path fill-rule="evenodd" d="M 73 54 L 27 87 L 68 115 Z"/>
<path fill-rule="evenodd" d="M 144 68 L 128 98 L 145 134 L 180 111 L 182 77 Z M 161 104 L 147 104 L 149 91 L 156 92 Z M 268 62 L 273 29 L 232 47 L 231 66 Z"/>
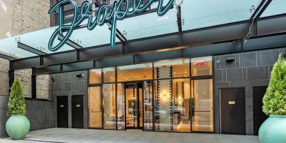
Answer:
<path fill-rule="evenodd" d="M 84 128 L 84 96 L 72 96 L 72 128 Z"/>

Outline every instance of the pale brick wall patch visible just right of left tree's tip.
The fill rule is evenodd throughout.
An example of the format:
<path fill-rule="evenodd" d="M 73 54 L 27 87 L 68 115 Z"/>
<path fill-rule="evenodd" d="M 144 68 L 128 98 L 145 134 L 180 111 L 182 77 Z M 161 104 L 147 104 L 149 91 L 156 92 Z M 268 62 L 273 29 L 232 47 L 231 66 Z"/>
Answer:
<path fill-rule="evenodd" d="M 31 75 L 32 75 L 32 69 L 26 69 L 26 70 L 16 70 L 14 73 L 15 79 L 18 78 L 18 80 L 21 82 L 21 85 L 23 87 L 23 92 L 25 97 L 31 97 Z"/>

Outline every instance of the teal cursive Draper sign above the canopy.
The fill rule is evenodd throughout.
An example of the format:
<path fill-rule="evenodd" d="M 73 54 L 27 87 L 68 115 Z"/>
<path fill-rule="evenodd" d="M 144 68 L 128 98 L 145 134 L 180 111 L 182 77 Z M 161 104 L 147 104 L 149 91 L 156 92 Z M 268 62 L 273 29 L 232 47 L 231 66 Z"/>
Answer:
<path fill-rule="evenodd" d="M 133 0 L 132 8 L 130 8 L 130 0 L 119 0 L 114 1 L 113 8 L 107 6 L 106 3 L 103 3 L 98 8 L 98 13 L 96 17 L 93 17 L 91 11 L 91 3 L 89 1 L 84 1 L 78 10 L 77 3 L 73 0 L 63 0 L 59 1 L 56 5 L 54 5 L 50 10 L 49 14 L 52 15 L 59 11 L 59 28 L 57 28 L 52 34 L 49 41 L 49 50 L 54 52 L 59 50 L 70 38 L 70 35 L 73 33 L 73 30 L 77 28 L 85 19 L 88 19 L 88 23 L 86 24 L 86 28 L 89 30 L 93 30 L 96 26 L 102 26 L 105 22 L 111 23 L 111 35 L 110 35 L 110 45 L 114 47 L 115 45 L 115 36 L 116 36 L 116 22 L 117 20 L 123 20 L 125 17 L 130 17 L 132 15 L 136 15 L 139 13 L 144 13 L 147 8 L 151 6 L 152 3 L 158 1 L 157 13 L 158 16 L 163 16 L 167 13 L 170 8 L 172 8 L 174 0 L 169 0 L 168 3 L 163 6 L 164 0 L 148 0 L 146 3 L 142 3 L 143 0 Z M 73 21 L 70 24 L 63 24 L 63 7 L 72 4 L 73 5 Z M 80 12 L 80 13 L 79 13 Z M 63 35 L 63 31 L 66 31 L 66 35 L 63 37 L 61 42 L 53 47 L 54 40 L 59 36 L 59 34 Z"/>

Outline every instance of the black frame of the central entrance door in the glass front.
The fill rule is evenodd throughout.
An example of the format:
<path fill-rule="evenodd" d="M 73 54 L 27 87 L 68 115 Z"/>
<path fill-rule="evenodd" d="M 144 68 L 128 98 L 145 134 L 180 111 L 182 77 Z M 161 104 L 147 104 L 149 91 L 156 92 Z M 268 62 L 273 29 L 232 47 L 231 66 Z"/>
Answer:
<path fill-rule="evenodd" d="M 124 106 L 125 106 L 125 130 L 128 130 L 128 129 L 138 129 L 138 130 L 144 130 L 144 81 L 142 82 L 123 82 L 123 87 L 124 87 Z M 126 123 L 126 119 L 127 119 L 127 116 L 126 116 L 126 84 L 136 84 L 137 85 L 137 127 L 127 127 L 127 123 Z M 142 84 L 142 87 L 140 88 L 138 86 L 138 84 Z M 135 89 L 135 88 L 132 88 L 132 89 Z M 140 104 L 140 91 L 139 89 L 142 89 L 142 103 Z M 140 128 L 140 106 L 142 106 L 142 128 Z M 116 111 L 117 112 L 117 111 Z"/>

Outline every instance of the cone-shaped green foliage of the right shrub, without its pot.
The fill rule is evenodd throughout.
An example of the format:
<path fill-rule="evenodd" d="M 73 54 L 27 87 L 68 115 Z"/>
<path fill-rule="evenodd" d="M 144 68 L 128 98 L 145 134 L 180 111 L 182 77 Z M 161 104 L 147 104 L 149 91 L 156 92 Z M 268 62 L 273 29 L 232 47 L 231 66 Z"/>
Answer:
<path fill-rule="evenodd" d="M 286 115 L 286 60 L 281 54 L 271 71 L 262 109 L 265 114 Z"/>

